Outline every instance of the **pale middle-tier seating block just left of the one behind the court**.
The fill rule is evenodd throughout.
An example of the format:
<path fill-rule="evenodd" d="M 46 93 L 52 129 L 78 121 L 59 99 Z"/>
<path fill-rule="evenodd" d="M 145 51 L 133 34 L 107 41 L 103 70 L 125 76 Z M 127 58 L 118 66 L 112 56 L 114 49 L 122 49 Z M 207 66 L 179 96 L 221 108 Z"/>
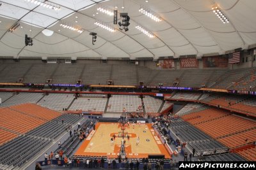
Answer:
<path fill-rule="evenodd" d="M 69 110 L 104 111 L 107 98 L 77 98 Z"/>

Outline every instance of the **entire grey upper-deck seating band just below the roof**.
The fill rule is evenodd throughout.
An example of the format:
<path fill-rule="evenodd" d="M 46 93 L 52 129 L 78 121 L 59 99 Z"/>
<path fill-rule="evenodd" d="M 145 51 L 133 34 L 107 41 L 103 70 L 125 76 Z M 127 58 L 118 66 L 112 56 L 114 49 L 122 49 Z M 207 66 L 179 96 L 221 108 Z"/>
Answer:
<path fill-rule="evenodd" d="M 172 85 L 179 81 L 179 87 L 206 87 L 219 89 L 249 90 L 256 86 L 256 68 L 246 69 L 183 69 L 166 70 L 152 69 L 134 64 L 47 64 L 33 63 L 3 63 L 1 64 L 0 82 L 16 82 L 23 78 L 25 83 L 75 83 L 77 79 L 84 84 L 106 85 L 107 80 L 113 80 L 115 85 Z"/>

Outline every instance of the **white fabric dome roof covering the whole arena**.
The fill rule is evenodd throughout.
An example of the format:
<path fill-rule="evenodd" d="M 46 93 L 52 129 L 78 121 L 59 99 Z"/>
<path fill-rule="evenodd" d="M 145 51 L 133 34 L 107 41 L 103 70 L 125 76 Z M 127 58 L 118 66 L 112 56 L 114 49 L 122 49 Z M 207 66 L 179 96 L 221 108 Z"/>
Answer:
<path fill-rule="evenodd" d="M 150 0 L 148 3 L 145 0 L 49 0 L 49 3 L 61 7 L 58 11 L 24 0 L 1 2 L 0 57 L 125 58 L 204 55 L 256 44 L 254 0 Z M 211 8 L 215 4 L 228 17 L 229 24 L 223 24 L 212 12 Z M 98 7 L 114 10 L 115 6 L 118 7 L 118 22 L 121 21 L 120 12 L 128 12 L 131 17 L 129 31 L 119 31 L 119 25 L 113 25 L 113 16 L 97 11 Z M 125 8 L 122 9 L 122 6 Z M 153 11 L 163 20 L 154 22 L 138 11 L 141 7 Z M 95 21 L 117 30 L 108 32 L 97 27 Z M 20 26 L 15 31 L 8 32 L 16 22 Z M 60 26 L 61 23 L 80 27 L 84 32 L 79 34 L 65 29 Z M 156 37 L 148 38 L 135 28 L 137 24 Z M 44 29 L 54 33 L 46 37 L 40 33 Z M 92 45 L 90 32 L 97 33 L 95 45 Z M 33 38 L 33 46 L 24 45 L 25 34 Z"/>

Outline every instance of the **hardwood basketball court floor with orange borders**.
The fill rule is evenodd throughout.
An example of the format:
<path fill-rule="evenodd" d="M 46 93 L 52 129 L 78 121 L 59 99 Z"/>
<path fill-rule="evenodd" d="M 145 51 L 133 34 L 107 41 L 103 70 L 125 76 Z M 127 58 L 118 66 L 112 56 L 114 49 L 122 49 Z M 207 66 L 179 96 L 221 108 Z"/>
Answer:
<path fill-rule="evenodd" d="M 121 132 L 120 125 L 117 123 L 99 122 L 96 124 L 96 131 L 92 131 L 74 155 L 83 156 L 108 156 L 116 158 L 120 152 L 120 144 L 122 138 L 116 138 L 114 143 L 111 143 L 113 134 L 118 136 Z M 165 155 L 165 158 L 170 158 L 164 145 L 157 136 L 154 136 L 154 129 L 150 124 L 135 124 L 126 127 L 125 132 L 130 136 L 129 141 L 125 138 L 126 146 L 125 153 L 128 158 L 143 158 L 148 155 Z M 140 143 L 136 145 L 136 139 L 140 136 Z"/>

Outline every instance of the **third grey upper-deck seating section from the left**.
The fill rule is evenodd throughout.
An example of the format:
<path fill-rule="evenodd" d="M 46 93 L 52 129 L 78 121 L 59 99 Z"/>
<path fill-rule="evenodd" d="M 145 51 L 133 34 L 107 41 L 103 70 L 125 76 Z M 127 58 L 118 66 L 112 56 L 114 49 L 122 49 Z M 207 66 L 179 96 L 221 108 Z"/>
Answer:
<path fill-rule="evenodd" d="M 61 64 L 55 71 L 51 83 L 76 83 L 83 70 L 82 64 Z"/>

